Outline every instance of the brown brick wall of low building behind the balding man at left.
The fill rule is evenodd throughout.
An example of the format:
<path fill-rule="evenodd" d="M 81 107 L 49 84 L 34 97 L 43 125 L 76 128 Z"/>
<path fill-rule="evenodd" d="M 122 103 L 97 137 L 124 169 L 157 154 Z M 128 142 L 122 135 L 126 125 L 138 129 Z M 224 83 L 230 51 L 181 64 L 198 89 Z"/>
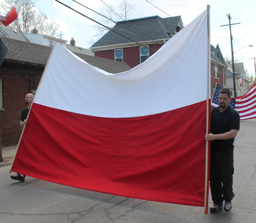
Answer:
<path fill-rule="evenodd" d="M 36 75 L 35 87 L 37 87 L 41 76 Z M 22 109 L 26 107 L 25 96 L 29 93 L 29 75 L 19 75 L 7 72 L 0 72 L 3 86 L 3 107 L 0 110 L 0 125 L 2 146 L 18 144 L 22 127 L 19 126 L 19 119 Z M 33 88 L 33 81 L 31 81 Z"/>

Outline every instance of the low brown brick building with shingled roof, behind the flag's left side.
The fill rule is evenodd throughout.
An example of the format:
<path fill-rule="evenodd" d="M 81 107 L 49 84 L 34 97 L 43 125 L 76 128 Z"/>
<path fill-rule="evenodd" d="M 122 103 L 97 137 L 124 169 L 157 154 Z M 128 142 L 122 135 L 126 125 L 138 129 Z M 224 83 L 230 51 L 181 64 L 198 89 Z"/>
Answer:
<path fill-rule="evenodd" d="M 1 139 L 2 146 L 10 146 L 18 143 L 22 132 L 19 126 L 20 114 L 26 107 L 25 96 L 36 90 L 52 48 L 7 37 L 1 37 L 0 41 L 8 47 L 0 66 Z M 75 54 L 89 64 L 112 74 L 131 69 L 126 63 Z"/>

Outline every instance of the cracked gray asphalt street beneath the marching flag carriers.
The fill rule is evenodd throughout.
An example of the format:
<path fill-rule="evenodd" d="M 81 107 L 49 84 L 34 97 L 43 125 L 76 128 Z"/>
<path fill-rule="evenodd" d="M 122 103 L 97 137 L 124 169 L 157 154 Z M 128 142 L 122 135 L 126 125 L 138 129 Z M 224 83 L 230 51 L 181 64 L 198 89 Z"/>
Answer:
<path fill-rule="evenodd" d="M 256 222 L 255 143 L 256 119 L 241 121 L 234 149 L 236 197 L 232 200 L 231 212 L 220 210 L 206 215 L 202 207 L 103 194 L 57 185 L 29 176 L 25 182 L 17 182 L 10 179 L 10 166 L 2 166 L 0 223 L 253 223 Z"/>

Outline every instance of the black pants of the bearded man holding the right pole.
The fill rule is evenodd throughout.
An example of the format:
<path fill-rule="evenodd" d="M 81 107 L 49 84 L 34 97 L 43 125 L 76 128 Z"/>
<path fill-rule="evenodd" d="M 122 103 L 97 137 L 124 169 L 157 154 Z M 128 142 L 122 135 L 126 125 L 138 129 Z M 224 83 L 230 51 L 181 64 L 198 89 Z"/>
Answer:
<path fill-rule="evenodd" d="M 230 202 L 233 193 L 233 152 L 212 151 L 210 153 L 210 190 L 214 204 Z"/>

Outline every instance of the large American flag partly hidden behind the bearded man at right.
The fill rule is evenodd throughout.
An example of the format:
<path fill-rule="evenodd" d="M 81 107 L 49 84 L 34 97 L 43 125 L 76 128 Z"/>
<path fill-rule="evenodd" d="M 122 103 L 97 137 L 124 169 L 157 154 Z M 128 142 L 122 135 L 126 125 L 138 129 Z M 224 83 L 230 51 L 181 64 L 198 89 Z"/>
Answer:
<path fill-rule="evenodd" d="M 220 105 L 220 90 L 221 86 L 217 83 L 214 91 L 214 96 L 211 99 L 212 107 L 218 107 Z M 232 98 L 229 105 L 230 107 L 238 111 L 241 120 L 256 118 L 256 83 L 244 96 Z"/>

